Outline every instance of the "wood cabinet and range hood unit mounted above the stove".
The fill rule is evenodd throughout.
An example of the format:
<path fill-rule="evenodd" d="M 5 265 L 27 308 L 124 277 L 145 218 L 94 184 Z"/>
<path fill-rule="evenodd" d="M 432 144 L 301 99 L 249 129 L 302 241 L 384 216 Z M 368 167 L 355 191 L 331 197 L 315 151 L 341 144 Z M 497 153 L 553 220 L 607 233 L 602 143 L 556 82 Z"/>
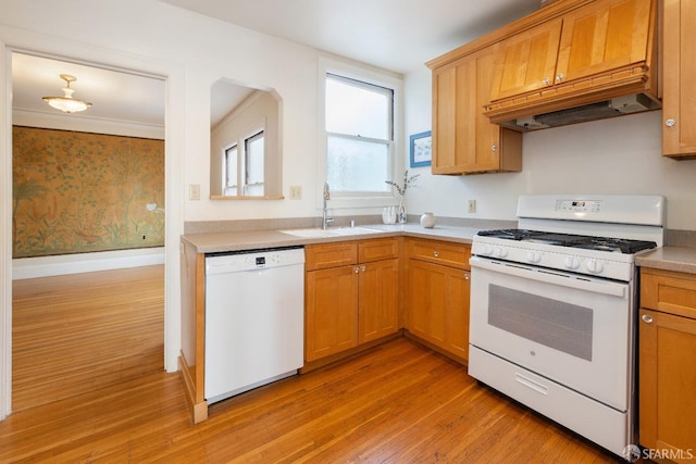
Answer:
<path fill-rule="evenodd" d="M 661 108 L 656 8 L 561 0 L 510 24 L 483 114 L 535 130 Z"/>

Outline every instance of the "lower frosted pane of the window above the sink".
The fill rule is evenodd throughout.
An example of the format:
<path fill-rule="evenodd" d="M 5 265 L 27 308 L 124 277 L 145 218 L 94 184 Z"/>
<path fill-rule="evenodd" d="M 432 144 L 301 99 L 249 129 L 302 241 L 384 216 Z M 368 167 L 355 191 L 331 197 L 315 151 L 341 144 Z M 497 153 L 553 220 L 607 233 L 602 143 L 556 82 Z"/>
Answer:
<path fill-rule="evenodd" d="M 334 191 L 388 192 L 389 146 L 328 136 L 327 181 Z"/>

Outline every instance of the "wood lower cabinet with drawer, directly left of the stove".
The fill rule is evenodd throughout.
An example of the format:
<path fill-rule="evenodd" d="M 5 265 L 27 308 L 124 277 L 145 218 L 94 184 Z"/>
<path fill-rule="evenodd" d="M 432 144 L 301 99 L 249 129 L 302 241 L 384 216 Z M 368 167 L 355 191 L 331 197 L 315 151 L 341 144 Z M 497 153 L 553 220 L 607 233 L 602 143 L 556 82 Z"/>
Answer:
<path fill-rule="evenodd" d="M 409 334 L 467 363 L 471 248 L 438 240 L 407 240 Z"/>

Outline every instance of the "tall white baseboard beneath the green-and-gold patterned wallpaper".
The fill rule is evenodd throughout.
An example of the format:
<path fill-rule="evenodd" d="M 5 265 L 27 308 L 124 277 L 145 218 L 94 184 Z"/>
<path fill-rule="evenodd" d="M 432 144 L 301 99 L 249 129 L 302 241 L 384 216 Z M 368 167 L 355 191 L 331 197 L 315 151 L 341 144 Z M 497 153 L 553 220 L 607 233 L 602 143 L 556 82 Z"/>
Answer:
<path fill-rule="evenodd" d="M 12 260 L 12 280 L 164 264 L 164 248 Z"/>

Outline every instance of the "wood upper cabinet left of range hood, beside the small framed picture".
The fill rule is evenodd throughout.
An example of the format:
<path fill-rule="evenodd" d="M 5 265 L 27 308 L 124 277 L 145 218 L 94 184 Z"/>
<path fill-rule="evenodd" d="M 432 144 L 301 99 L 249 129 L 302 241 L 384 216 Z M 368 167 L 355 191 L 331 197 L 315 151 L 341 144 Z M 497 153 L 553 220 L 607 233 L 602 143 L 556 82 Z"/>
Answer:
<path fill-rule="evenodd" d="M 483 114 L 497 47 L 433 67 L 433 174 L 522 170 L 522 135 Z"/>

